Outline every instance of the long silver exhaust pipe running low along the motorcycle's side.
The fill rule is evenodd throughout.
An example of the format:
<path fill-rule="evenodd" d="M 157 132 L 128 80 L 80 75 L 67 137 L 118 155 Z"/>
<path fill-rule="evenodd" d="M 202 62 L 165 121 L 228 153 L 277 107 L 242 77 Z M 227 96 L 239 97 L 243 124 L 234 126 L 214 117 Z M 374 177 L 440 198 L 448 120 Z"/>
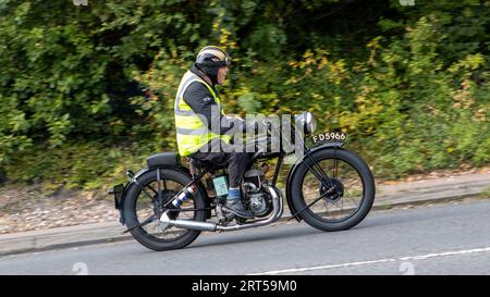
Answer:
<path fill-rule="evenodd" d="M 208 223 L 208 222 L 196 222 L 192 220 L 170 220 L 167 213 L 163 213 L 160 216 L 160 226 L 162 230 L 166 230 L 171 226 L 181 227 L 181 228 L 191 228 L 191 230 L 200 230 L 200 231 L 237 231 L 249 227 L 258 227 L 267 224 L 271 224 L 281 218 L 283 212 L 283 201 L 281 191 L 271 185 L 266 185 L 267 190 L 272 197 L 272 214 L 264 220 L 257 220 L 252 223 L 243 224 L 243 225 L 233 225 L 233 226 L 221 226 L 217 223 Z"/>

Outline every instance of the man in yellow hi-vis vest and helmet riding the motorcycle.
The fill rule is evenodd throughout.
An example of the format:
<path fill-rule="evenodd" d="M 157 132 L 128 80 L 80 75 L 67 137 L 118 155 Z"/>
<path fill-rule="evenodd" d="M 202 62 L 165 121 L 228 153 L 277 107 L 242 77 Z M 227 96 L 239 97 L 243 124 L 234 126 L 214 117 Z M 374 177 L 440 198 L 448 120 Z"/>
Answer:
<path fill-rule="evenodd" d="M 241 201 L 240 189 L 249 154 L 234 151 L 229 135 L 231 129 L 245 131 L 246 126 L 243 120 L 223 113 L 215 88 L 226 79 L 230 60 L 219 47 L 205 47 L 182 77 L 174 104 L 176 143 L 182 157 L 228 166 L 230 186 L 225 207 L 237 216 L 253 218 Z"/>

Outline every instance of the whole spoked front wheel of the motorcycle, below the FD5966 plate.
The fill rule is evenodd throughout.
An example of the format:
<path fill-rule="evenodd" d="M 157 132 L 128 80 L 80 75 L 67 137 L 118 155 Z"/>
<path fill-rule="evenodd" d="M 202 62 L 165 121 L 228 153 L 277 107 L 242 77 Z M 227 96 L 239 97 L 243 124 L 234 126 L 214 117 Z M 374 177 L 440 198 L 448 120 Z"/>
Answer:
<path fill-rule="evenodd" d="M 323 180 L 323 183 L 321 182 Z M 322 231 L 351 228 L 375 201 L 369 166 L 352 151 L 326 148 L 305 156 L 291 180 L 291 199 L 309 225 Z"/>

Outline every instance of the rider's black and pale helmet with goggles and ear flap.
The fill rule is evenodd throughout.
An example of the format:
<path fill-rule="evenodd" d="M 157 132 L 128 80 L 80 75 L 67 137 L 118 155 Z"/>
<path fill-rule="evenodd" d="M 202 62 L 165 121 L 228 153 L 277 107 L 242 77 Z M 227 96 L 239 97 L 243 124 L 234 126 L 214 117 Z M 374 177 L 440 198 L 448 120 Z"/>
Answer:
<path fill-rule="evenodd" d="M 204 72 L 212 83 L 217 83 L 218 70 L 222 66 L 229 66 L 230 55 L 219 47 L 204 47 L 196 57 L 196 67 Z"/>

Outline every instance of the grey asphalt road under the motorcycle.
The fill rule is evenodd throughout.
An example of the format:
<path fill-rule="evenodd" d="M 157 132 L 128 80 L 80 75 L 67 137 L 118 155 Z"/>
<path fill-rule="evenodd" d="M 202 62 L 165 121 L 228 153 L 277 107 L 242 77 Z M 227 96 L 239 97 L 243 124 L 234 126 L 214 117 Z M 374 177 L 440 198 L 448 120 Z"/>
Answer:
<path fill-rule="evenodd" d="M 490 200 L 371 212 L 323 233 L 306 223 L 204 233 L 182 250 L 134 240 L 7 256 L 0 274 L 490 274 Z"/>

